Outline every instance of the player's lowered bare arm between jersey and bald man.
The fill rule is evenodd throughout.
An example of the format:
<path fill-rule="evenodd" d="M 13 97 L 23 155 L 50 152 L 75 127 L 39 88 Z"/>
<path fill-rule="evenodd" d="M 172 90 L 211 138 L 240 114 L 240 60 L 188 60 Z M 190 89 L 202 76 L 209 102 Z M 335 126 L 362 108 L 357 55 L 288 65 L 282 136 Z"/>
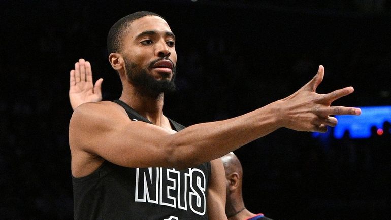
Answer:
<path fill-rule="evenodd" d="M 225 215 L 225 172 L 221 159 L 211 161 L 211 180 L 208 186 L 209 219 L 226 219 Z"/>

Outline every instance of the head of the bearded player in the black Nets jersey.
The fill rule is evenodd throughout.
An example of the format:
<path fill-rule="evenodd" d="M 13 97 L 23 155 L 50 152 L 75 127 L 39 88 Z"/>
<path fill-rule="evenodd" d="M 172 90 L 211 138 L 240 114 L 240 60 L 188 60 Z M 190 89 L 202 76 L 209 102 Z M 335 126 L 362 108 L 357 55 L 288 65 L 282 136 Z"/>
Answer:
<path fill-rule="evenodd" d="M 143 94 L 155 96 L 175 89 L 175 36 L 160 15 L 136 12 L 121 18 L 109 31 L 107 47 L 121 79 Z"/>

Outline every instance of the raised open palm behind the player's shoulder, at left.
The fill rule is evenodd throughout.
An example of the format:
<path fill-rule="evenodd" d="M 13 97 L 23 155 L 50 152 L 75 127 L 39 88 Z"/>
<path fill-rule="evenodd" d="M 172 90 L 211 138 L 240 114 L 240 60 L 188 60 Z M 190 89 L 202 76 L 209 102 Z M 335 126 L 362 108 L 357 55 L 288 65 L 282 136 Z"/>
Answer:
<path fill-rule="evenodd" d="M 86 102 L 97 102 L 102 100 L 102 82 L 100 78 L 95 86 L 92 83 L 91 64 L 84 59 L 75 63 L 75 69 L 70 72 L 69 79 L 69 100 L 72 109 Z"/>

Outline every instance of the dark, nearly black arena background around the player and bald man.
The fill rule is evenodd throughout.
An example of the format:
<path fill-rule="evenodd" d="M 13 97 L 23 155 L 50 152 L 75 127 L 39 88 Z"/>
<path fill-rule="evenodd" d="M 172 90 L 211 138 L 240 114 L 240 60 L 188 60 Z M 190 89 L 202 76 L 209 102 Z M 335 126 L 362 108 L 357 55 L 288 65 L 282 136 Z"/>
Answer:
<path fill-rule="evenodd" d="M 69 71 L 90 61 L 104 100 L 121 85 L 106 53 L 119 18 L 153 11 L 177 36 L 178 92 L 165 114 L 188 126 L 284 98 L 325 67 L 335 105 L 390 105 L 391 1 L 0 1 L 0 219 L 72 219 Z M 360 117 L 357 117 L 360 120 Z M 389 219 L 389 135 L 320 142 L 279 129 L 235 153 L 244 200 L 273 219 Z"/>

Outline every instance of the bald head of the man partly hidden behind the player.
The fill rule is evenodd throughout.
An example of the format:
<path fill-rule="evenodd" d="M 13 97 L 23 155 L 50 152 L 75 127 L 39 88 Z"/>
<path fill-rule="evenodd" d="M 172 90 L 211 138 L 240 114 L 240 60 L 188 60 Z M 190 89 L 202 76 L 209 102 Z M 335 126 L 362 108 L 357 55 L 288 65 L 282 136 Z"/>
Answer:
<path fill-rule="evenodd" d="M 231 209 L 243 204 L 242 197 L 242 177 L 243 169 L 239 159 L 231 152 L 221 157 L 225 170 L 226 182 L 226 205 L 225 213 L 230 214 Z M 244 204 L 243 204 L 244 206 Z"/>

